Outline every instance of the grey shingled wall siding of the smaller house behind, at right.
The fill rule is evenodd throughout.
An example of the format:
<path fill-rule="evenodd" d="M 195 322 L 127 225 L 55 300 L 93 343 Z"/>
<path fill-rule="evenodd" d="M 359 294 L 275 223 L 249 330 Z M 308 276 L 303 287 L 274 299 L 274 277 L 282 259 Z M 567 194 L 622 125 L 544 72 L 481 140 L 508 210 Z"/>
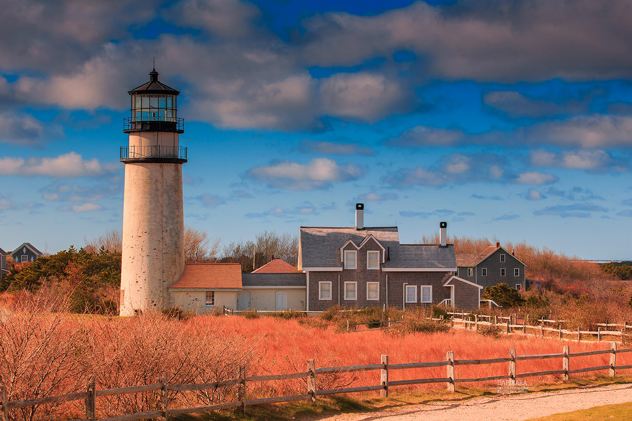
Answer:
<path fill-rule="evenodd" d="M 505 262 L 501 263 L 500 255 L 505 255 Z M 483 268 L 487 269 L 487 276 L 483 276 Z M 501 268 L 505 268 L 506 275 L 501 276 Z M 514 276 L 514 269 L 520 269 L 520 276 Z M 497 249 L 487 256 L 483 261 L 473 268 L 472 276 L 467 276 L 467 268 L 459 266 L 459 278 L 463 278 L 470 282 L 478 283 L 483 287 L 493 287 L 498 283 L 507 283 L 509 287 L 516 287 L 519 283 L 524 288 L 525 285 L 525 265 L 520 263 L 511 253 Z"/>

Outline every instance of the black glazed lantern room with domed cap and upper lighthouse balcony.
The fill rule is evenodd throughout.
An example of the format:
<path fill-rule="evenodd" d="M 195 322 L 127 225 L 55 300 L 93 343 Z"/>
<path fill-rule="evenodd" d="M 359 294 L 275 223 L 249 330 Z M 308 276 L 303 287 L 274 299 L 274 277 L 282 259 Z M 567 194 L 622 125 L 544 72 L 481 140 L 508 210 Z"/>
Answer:
<path fill-rule="evenodd" d="M 184 120 L 178 118 L 179 92 L 158 81 L 158 72 L 149 72 L 149 82 L 128 91 L 131 116 L 125 118 L 123 131 L 171 131 L 184 133 Z"/>

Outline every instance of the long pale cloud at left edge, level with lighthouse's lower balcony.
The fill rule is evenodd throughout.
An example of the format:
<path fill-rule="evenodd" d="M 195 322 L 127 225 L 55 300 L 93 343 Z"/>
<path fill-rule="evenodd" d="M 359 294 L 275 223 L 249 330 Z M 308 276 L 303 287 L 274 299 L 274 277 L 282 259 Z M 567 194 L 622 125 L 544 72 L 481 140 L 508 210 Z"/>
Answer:
<path fill-rule="evenodd" d="M 76 152 L 58 157 L 0 158 L 0 175 L 44 175 L 47 177 L 97 177 L 110 174 L 116 164 L 102 164 L 97 158 L 85 160 Z"/>

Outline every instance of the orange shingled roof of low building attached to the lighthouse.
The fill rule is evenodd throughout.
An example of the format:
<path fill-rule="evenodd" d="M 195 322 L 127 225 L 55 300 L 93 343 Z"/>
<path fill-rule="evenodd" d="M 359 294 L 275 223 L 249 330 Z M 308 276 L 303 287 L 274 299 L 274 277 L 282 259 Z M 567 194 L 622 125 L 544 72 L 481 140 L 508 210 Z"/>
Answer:
<path fill-rule="evenodd" d="M 169 287 L 195 289 L 241 289 L 239 263 L 186 263 L 178 282 Z"/>

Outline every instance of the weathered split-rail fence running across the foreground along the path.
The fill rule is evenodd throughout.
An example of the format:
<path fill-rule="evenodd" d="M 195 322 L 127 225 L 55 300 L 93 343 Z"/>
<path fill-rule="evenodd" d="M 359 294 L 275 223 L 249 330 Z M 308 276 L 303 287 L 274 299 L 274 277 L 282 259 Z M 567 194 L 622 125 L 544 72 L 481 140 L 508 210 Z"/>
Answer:
<path fill-rule="evenodd" d="M 315 402 L 319 396 L 338 394 L 338 393 L 355 393 L 367 391 L 380 391 L 381 396 L 388 396 L 389 389 L 394 386 L 404 386 L 408 384 L 426 384 L 426 383 L 446 383 L 447 389 L 454 391 L 457 383 L 462 382 L 484 382 L 494 380 L 506 380 L 507 384 L 516 383 L 517 379 L 533 376 L 549 376 L 561 375 L 562 380 L 568 381 L 571 374 L 583 373 L 590 371 L 607 370 L 609 376 L 614 377 L 616 371 L 632 369 L 632 365 L 617 365 L 617 355 L 621 353 L 632 352 L 630 349 L 617 350 L 616 343 L 611 343 L 611 347 L 605 350 L 586 351 L 571 353 L 568 345 L 565 345 L 561 353 L 541 354 L 541 355 L 516 355 L 515 348 L 509 350 L 509 357 L 483 359 L 483 360 L 456 360 L 454 352 L 446 353 L 446 360 L 432 362 L 413 362 L 408 364 L 391 364 L 389 356 L 382 355 L 379 364 L 367 365 L 351 365 L 348 367 L 322 367 L 316 368 L 315 360 L 307 361 L 307 371 L 291 374 L 277 374 L 269 376 L 248 376 L 244 366 L 239 369 L 239 376 L 235 379 L 229 379 L 214 383 L 205 384 L 169 384 L 167 382 L 167 374 L 164 373 L 160 382 L 155 384 L 145 384 L 142 386 L 131 386 L 129 388 L 120 389 L 97 389 L 94 383 L 88 384 L 85 392 L 70 393 L 61 396 L 49 396 L 46 398 L 37 398 L 32 400 L 8 400 L 7 389 L 0 386 L 0 413 L 3 415 L 3 421 L 9 421 L 9 412 L 16 408 L 26 408 L 29 406 L 38 406 L 46 404 L 58 404 L 68 401 L 80 401 L 85 403 L 85 418 L 73 421 L 96 421 L 97 398 L 101 396 L 116 396 L 121 394 L 135 394 L 143 392 L 158 391 L 160 393 L 161 410 L 153 410 L 147 412 L 137 412 L 126 415 L 119 415 L 111 418 L 101 418 L 99 421 L 134 421 L 149 420 L 155 418 L 164 418 L 167 420 L 173 415 L 181 415 L 186 413 L 210 412 L 216 410 L 225 410 L 231 408 L 241 408 L 243 412 L 246 406 L 263 405 L 269 403 L 291 402 L 300 400 L 311 400 Z M 586 357 L 589 355 L 609 354 L 610 360 L 607 365 L 599 365 L 596 367 L 582 367 L 571 369 L 571 357 Z M 518 361 L 525 360 L 544 360 L 544 359 L 561 359 L 561 368 L 557 370 L 545 370 L 535 372 L 518 372 Z M 476 378 L 459 378 L 457 377 L 459 365 L 483 365 L 483 364 L 499 364 L 508 363 L 509 367 L 506 374 L 497 376 L 476 377 Z M 446 367 L 446 377 L 435 377 L 427 379 L 408 379 L 389 381 L 389 372 L 392 370 L 419 369 L 427 367 Z M 360 371 L 379 371 L 379 384 L 374 386 L 359 386 L 355 388 L 339 388 L 339 389 L 319 389 L 317 387 L 317 377 L 324 374 L 338 374 L 343 372 L 360 372 Z M 249 399 L 247 393 L 247 384 L 250 382 L 275 381 L 285 379 L 307 379 L 307 389 L 305 394 L 296 394 L 293 396 L 276 396 L 272 398 L 255 398 Z M 214 405 L 196 406 L 193 408 L 169 408 L 169 399 L 167 394 L 169 391 L 202 391 L 209 389 L 224 388 L 228 386 L 238 386 L 237 400 L 224 403 L 216 403 Z"/>

